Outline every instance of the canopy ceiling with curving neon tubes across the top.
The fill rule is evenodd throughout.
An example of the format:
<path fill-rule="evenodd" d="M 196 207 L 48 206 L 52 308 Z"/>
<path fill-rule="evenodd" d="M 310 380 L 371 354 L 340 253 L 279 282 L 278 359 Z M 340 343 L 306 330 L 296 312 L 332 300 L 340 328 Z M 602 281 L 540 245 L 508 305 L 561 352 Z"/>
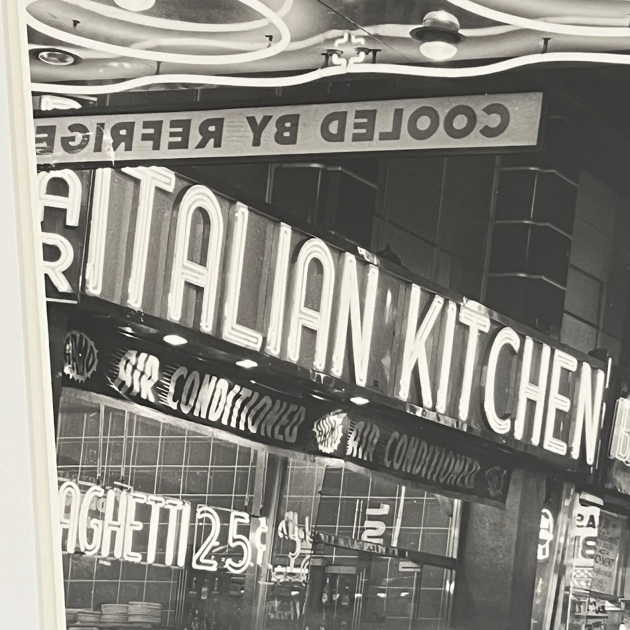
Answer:
<path fill-rule="evenodd" d="M 494 72 L 512 60 L 578 65 L 630 61 L 625 57 L 630 50 L 630 3 L 619 0 L 26 0 L 26 4 L 34 89 L 66 94 L 89 94 L 89 86 L 93 92 L 106 93 L 164 84 L 207 85 L 213 77 L 223 85 L 258 85 L 263 77 L 276 77 L 267 79 L 270 85 L 295 84 L 296 76 L 301 77 L 297 81 L 317 80 L 318 69 L 326 65 L 331 75 L 376 71 L 474 76 L 478 67 Z M 427 59 L 410 37 L 410 30 L 437 9 L 454 14 L 464 37 L 457 54 L 441 65 Z M 530 20 L 525 25 L 524 18 Z M 71 55 L 67 65 L 40 59 L 40 52 L 51 48 Z M 360 48 L 379 52 L 359 57 Z M 326 60 L 330 49 L 340 50 L 340 57 Z"/>

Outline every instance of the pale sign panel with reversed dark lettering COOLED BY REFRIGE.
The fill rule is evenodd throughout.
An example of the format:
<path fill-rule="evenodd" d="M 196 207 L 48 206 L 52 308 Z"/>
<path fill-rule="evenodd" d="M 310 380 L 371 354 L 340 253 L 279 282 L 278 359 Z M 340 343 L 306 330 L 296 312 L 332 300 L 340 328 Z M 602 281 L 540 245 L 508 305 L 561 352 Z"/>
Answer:
<path fill-rule="evenodd" d="M 542 94 L 40 118 L 38 164 L 526 147 Z"/>

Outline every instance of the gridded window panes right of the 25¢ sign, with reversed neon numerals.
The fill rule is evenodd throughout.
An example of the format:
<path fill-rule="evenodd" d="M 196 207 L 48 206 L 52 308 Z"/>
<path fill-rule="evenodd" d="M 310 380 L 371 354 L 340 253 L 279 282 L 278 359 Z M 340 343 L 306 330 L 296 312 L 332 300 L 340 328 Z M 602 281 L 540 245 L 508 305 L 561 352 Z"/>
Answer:
<path fill-rule="evenodd" d="M 316 530 L 387 547 L 449 556 L 454 548 L 456 518 L 449 516 L 445 504 L 449 502 L 440 503 L 431 493 L 402 486 L 391 479 L 343 467 L 328 468 Z M 341 547 L 325 547 L 322 559 L 329 566 L 352 567 L 356 571 L 350 574 L 350 584 L 345 583 L 347 576 L 340 577 L 344 574 L 334 572 L 323 582 L 323 589 L 331 590 L 330 597 L 342 597 L 343 591 L 349 589 L 352 599 L 361 600 L 353 603 L 353 627 L 361 630 L 447 627 L 453 578 L 450 570 L 373 554 L 360 559 L 357 551 Z M 358 576 L 356 590 L 352 590 L 355 576 Z"/>

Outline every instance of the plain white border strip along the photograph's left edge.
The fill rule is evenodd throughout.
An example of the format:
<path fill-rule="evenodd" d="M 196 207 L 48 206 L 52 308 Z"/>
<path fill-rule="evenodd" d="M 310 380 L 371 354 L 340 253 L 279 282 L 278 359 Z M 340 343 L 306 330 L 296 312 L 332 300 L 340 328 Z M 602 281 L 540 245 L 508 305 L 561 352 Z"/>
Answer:
<path fill-rule="evenodd" d="M 0 6 L 1 625 L 56 630 L 66 621 L 26 11 L 24 0 Z"/>

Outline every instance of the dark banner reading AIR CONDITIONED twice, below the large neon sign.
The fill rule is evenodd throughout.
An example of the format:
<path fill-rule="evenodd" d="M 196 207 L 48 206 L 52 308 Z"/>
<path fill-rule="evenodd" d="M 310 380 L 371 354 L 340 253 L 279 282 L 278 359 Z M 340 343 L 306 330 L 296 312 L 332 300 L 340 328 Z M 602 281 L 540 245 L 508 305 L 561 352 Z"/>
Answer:
<path fill-rule="evenodd" d="M 294 398 L 184 353 L 127 335 L 76 329 L 66 340 L 66 385 L 115 396 L 258 444 L 333 457 L 453 496 L 505 503 L 510 472 L 498 455 L 402 423 L 347 413 L 311 396 Z"/>

